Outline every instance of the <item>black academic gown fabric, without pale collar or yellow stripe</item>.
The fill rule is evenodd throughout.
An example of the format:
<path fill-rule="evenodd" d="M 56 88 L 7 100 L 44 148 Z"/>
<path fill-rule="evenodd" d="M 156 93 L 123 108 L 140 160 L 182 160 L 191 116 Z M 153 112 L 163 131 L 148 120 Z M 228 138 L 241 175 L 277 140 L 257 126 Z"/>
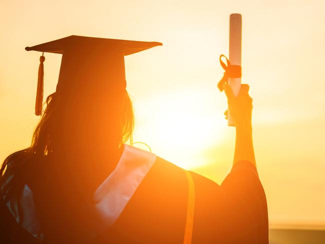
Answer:
<path fill-rule="evenodd" d="M 195 188 L 191 243 L 268 243 L 266 198 L 250 162 L 237 162 L 221 185 L 194 172 L 191 176 Z M 157 157 L 115 223 L 85 241 L 183 243 L 187 194 L 184 169 Z M 39 243 L 3 201 L 0 216 L 0 243 Z"/>

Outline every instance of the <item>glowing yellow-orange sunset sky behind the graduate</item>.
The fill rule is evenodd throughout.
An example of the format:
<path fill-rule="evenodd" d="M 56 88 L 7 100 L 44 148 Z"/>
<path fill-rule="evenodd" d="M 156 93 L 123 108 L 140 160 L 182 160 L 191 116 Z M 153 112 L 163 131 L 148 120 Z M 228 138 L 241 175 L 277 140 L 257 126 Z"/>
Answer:
<path fill-rule="evenodd" d="M 39 52 L 71 34 L 160 41 L 125 57 L 134 141 L 220 183 L 233 127 L 216 84 L 228 54 L 229 14 L 242 14 L 242 80 L 253 98 L 258 172 L 271 224 L 325 226 L 325 1 L 1 0 L 0 160 L 30 144 Z M 45 53 L 44 96 L 60 54 Z M 135 144 L 136 145 L 136 144 Z"/>

